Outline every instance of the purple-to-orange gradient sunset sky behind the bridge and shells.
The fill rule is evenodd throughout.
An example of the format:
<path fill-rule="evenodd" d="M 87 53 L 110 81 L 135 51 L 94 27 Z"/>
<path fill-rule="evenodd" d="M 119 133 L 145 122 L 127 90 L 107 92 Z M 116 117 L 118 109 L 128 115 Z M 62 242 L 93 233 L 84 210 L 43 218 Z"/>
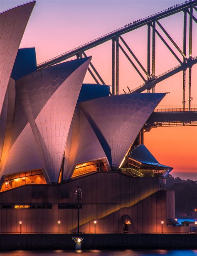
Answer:
<path fill-rule="evenodd" d="M 182 2 L 185 1 L 37 0 L 20 47 L 34 46 L 37 63 L 40 63 L 127 23 Z M 24 0 L 0 0 L 0 12 L 23 3 L 26 2 Z M 196 15 L 195 11 L 194 14 Z M 183 13 L 164 18 L 160 23 L 182 48 Z M 189 22 L 187 22 L 188 24 Z M 159 28 L 158 30 L 160 31 Z M 147 27 L 144 26 L 123 35 L 126 43 L 145 68 L 146 32 Z M 177 53 L 173 46 L 172 48 Z M 92 56 L 92 63 L 106 84 L 111 84 L 111 41 L 86 51 L 86 54 Z M 177 55 L 181 58 L 179 53 Z M 197 56 L 197 25 L 194 22 L 192 56 Z M 162 74 L 178 64 L 169 50 L 156 37 L 156 75 Z M 132 68 L 121 50 L 119 76 L 120 94 L 123 93 L 123 89 L 127 89 L 127 86 L 134 89 L 143 84 L 143 80 Z M 186 79 L 186 99 L 188 99 L 188 70 Z M 94 82 L 94 80 L 87 74 L 85 82 Z M 158 84 L 155 91 L 170 92 L 158 108 L 182 107 L 182 72 Z M 192 97 L 192 107 L 197 107 L 197 65 L 192 68 Z M 186 104 L 188 106 L 188 101 Z M 154 128 L 151 132 L 145 133 L 145 145 L 161 164 L 174 167 L 171 172 L 174 177 L 197 180 L 197 127 Z"/>

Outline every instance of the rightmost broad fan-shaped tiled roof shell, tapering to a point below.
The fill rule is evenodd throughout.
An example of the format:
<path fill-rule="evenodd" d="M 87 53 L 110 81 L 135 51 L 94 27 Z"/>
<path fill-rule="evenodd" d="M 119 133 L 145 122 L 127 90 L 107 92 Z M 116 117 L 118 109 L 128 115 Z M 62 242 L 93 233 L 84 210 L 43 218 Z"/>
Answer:
<path fill-rule="evenodd" d="M 126 94 L 80 104 L 112 167 L 119 167 L 155 107 L 165 94 Z"/>

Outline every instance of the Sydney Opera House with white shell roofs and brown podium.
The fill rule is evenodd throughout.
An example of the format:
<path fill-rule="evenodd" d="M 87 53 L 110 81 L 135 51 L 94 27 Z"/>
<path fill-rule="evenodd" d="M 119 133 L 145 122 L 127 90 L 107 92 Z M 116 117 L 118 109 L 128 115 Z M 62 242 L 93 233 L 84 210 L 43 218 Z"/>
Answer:
<path fill-rule="evenodd" d="M 0 13 L 0 232 L 76 232 L 76 186 L 80 232 L 178 232 L 172 167 L 143 144 L 165 93 L 84 84 L 91 57 L 37 69 L 19 49 L 34 5 Z"/>

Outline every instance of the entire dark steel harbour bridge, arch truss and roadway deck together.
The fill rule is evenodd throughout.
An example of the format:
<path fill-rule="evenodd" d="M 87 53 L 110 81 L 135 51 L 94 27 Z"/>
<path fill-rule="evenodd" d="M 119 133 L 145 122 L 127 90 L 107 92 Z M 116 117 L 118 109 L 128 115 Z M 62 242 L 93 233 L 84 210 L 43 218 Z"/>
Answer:
<path fill-rule="evenodd" d="M 143 84 L 135 89 L 124 91 L 125 94 L 143 92 L 147 90 L 149 93 L 155 92 L 155 86 L 161 81 L 164 81 L 175 74 L 182 72 L 182 107 L 172 109 L 156 109 L 156 111 L 148 119 L 145 125 L 145 131 L 150 130 L 152 127 L 160 126 L 194 126 L 197 125 L 197 108 L 192 108 L 192 66 L 197 63 L 197 56 L 192 56 L 192 32 L 196 28 L 197 18 L 197 0 L 187 0 L 184 3 L 170 6 L 169 8 L 150 15 L 145 18 L 140 18 L 129 24 L 124 25 L 110 33 L 107 33 L 99 38 L 96 38 L 88 43 L 79 47 L 71 49 L 59 56 L 56 56 L 48 61 L 39 63 L 37 68 L 43 68 L 65 61 L 71 57 L 82 58 L 86 55 L 86 51 L 97 47 L 101 44 L 111 41 L 111 95 L 119 94 L 119 52 L 121 51 L 128 59 L 131 66 L 138 73 L 143 80 Z M 165 27 L 160 23 L 160 20 L 182 13 L 182 47 L 173 39 Z M 126 33 L 132 33 L 133 30 L 138 30 L 141 27 L 147 28 L 147 66 L 143 66 L 139 61 L 138 56 L 132 51 L 131 47 L 123 38 Z M 155 58 L 156 58 L 156 37 L 164 44 L 172 56 L 178 61 L 179 65 L 165 71 L 163 74 L 155 74 Z M 188 70 L 188 79 L 186 81 L 186 71 Z M 89 73 L 93 77 L 96 84 L 106 84 L 102 79 L 102 74 L 99 74 L 93 63 L 90 63 L 88 68 Z M 188 99 L 186 99 L 186 90 L 188 90 Z M 188 107 L 186 102 L 188 100 Z"/>

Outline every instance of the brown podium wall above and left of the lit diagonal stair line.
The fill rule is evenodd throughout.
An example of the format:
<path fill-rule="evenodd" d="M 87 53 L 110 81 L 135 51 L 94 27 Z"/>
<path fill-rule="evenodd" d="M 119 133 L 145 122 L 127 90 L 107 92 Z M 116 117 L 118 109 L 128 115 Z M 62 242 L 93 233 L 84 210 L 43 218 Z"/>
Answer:
<path fill-rule="evenodd" d="M 119 172 L 98 172 L 61 185 L 25 185 L 8 190 L 0 193 L 0 206 L 4 207 L 0 208 L 0 233 L 19 233 L 19 221 L 22 221 L 22 233 L 57 232 L 57 221 L 61 221 L 61 233 L 71 232 L 77 227 L 77 209 L 62 209 L 60 205 L 76 205 L 75 186 L 82 187 L 81 226 L 138 203 L 158 191 L 162 182 L 165 182 L 164 178 L 131 178 Z M 41 207 L 5 208 L 14 205 Z M 159 209 L 160 205 L 157 207 Z M 145 218 L 143 208 L 138 209 L 138 214 Z M 120 218 L 114 219 L 114 223 L 119 223 Z M 99 230 L 100 233 L 104 231 Z"/>

